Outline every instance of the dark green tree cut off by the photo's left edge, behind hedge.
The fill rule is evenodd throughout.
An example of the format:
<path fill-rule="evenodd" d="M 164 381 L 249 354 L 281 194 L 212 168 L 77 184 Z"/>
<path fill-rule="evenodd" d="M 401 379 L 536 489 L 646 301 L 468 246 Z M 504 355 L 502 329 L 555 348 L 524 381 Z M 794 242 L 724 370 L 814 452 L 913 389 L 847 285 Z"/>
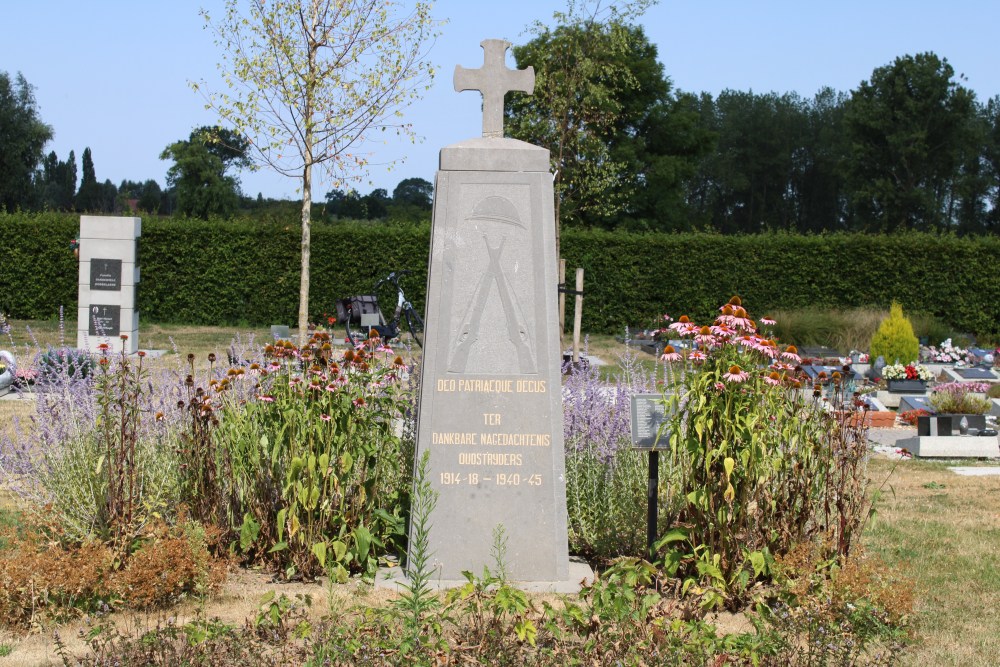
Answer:
<path fill-rule="evenodd" d="M 32 86 L 18 73 L 0 72 L 0 209 L 31 204 L 32 177 L 52 128 L 38 117 Z"/>

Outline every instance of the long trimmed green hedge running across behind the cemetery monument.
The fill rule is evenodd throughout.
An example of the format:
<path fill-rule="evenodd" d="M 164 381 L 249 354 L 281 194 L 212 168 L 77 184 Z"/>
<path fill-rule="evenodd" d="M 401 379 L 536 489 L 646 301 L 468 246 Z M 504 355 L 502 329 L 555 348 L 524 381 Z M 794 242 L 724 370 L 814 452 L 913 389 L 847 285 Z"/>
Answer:
<path fill-rule="evenodd" d="M 0 215 L 0 309 L 17 318 L 75 307 L 76 216 Z M 312 236 L 310 310 L 368 292 L 388 271 L 424 300 L 429 230 L 355 223 L 317 224 Z M 140 250 L 139 309 L 147 321 L 273 324 L 297 319 L 297 221 L 147 219 Z M 1000 338 L 1000 238 L 901 234 L 626 234 L 566 230 L 572 275 L 583 267 L 585 331 L 616 333 L 659 315 L 705 319 L 733 294 L 751 312 L 770 309 L 888 308 L 930 313 L 956 329 Z"/>

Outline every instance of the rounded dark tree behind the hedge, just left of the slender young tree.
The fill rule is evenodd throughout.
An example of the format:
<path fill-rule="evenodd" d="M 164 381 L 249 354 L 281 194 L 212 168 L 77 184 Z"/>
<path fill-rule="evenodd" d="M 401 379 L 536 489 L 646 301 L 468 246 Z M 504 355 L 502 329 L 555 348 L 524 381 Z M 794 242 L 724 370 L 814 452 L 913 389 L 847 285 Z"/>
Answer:
<path fill-rule="evenodd" d="M 220 127 L 199 127 L 187 141 L 176 141 L 160 154 L 173 160 L 167 185 L 177 193 L 177 210 L 194 218 L 232 215 L 239 204 L 239 181 L 230 169 L 250 165 L 249 143 Z"/>

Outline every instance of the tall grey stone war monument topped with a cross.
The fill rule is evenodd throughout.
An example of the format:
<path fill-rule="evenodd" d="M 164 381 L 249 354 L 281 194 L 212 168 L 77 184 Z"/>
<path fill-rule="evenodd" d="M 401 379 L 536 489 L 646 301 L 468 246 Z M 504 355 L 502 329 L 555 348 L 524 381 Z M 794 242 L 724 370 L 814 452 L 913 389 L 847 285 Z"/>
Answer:
<path fill-rule="evenodd" d="M 534 72 L 507 69 L 503 40 L 482 47 L 483 67 L 454 81 L 483 93 L 483 136 L 441 150 L 434 188 L 417 427 L 438 494 L 429 547 L 434 579 L 464 583 L 495 566 L 502 526 L 508 578 L 558 590 L 570 574 L 549 152 L 503 137 L 504 93 L 530 93 Z"/>

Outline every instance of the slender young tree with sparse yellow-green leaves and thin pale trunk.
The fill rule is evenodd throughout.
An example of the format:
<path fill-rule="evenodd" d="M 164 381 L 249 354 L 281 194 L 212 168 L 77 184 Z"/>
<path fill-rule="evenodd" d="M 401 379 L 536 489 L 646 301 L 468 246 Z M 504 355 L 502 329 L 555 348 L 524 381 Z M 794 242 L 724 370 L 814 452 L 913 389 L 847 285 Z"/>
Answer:
<path fill-rule="evenodd" d="M 250 0 L 244 14 L 241 4 L 227 0 L 218 21 L 203 12 L 230 85 L 208 100 L 250 139 L 261 163 L 301 183 L 304 343 L 313 167 L 339 185 L 366 168 L 361 147 L 373 135 L 413 136 L 398 116 L 433 77 L 423 53 L 430 6 L 418 2 L 406 13 L 391 0 Z"/>

